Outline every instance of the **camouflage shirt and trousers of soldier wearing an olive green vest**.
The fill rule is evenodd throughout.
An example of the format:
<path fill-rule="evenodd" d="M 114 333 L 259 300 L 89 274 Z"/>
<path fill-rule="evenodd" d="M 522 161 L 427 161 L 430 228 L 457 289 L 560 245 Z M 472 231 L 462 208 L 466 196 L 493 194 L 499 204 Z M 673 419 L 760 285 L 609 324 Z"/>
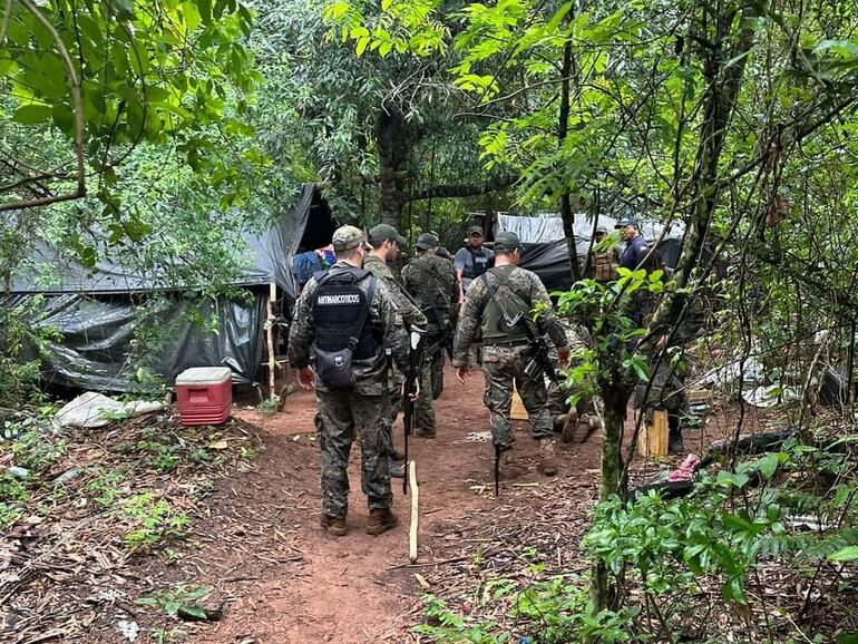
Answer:
<path fill-rule="evenodd" d="M 468 289 L 456 333 L 454 367 L 468 364 L 468 347 L 481 329 L 486 377 L 484 402 L 491 412 L 495 445 L 508 450 L 515 442 L 509 420 L 514 383 L 530 418 L 532 436 L 537 440 L 550 440 L 554 428 L 545 407 L 545 379 L 532 379 L 524 373 L 530 362 L 527 336 L 520 329 L 521 324 L 509 329 L 495 323 L 500 316 L 500 308 L 491 301 L 486 280 L 490 281 L 495 297 L 503 302 L 503 310 L 509 315 L 518 312 L 529 315 L 537 303 L 545 304 L 550 311 L 548 293 L 535 273 L 511 265 L 490 269 L 485 277 L 474 280 Z M 524 308 L 526 311 L 523 311 Z M 563 326 L 550 313 L 539 319 L 539 332 L 547 332 L 556 347 L 567 349 Z"/>

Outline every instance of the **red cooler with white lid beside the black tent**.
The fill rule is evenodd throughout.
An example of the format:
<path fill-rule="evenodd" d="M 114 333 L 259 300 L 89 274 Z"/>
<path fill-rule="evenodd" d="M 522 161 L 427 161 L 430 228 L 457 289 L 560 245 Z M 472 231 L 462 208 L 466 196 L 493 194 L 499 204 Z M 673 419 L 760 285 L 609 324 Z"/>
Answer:
<path fill-rule="evenodd" d="M 228 367 L 194 367 L 176 377 L 179 421 L 185 427 L 221 425 L 232 414 L 233 372 Z"/>

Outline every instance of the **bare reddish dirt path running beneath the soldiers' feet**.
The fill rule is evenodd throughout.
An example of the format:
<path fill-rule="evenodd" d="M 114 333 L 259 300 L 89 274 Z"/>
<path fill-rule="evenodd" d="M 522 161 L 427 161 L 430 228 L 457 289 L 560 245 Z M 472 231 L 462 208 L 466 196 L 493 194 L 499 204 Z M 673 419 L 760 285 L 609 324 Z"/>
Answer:
<path fill-rule="evenodd" d="M 488 430 L 481 394 L 479 373 L 461 387 L 448 372 L 447 389 L 437 401 L 438 437 L 411 440 L 410 457 L 417 461 L 421 486 L 421 560 L 432 560 L 438 541 L 442 541 L 439 549 L 449 547 L 449 527 L 459 519 L 496 505 L 490 446 L 465 440 L 470 432 Z M 272 417 L 248 410 L 237 413 L 265 430 L 265 451 L 257 459 L 256 471 L 232 479 L 225 484 L 228 489 L 222 488 L 216 495 L 211 525 L 198 530 L 209 538 L 195 556 L 183 560 L 188 580 L 211 583 L 226 599 L 224 619 L 193 641 L 406 641 L 406 630 L 419 619 L 417 603 L 422 591 L 412 569 L 397 567 L 408 564 L 408 500 L 401 488 L 394 488 L 400 525 L 379 537 L 367 535 L 368 510 L 360 492 L 359 456 L 353 451 L 350 531 L 344 538 L 330 537 L 318 520 L 319 457 L 312 439 L 312 392 L 293 394 L 285 411 Z M 400 441 L 401 436 L 397 436 Z M 594 437 L 583 448 L 563 446 L 559 478 L 595 469 L 598 442 Z M 520 428 L 517 450 L 529 470 L 503 484 L 501 498 L 507 494 L 510 500 L 514 491 L 550 485 L 535 471 L 535 442 Z M 394 480 L 394 485 L 401 481 Z M 218 534 L 222 539 L 216 538 Z M 212 574 L 213 566 L 217 575 Z M 203 579 L 201 572 L 205 572 Z"/>

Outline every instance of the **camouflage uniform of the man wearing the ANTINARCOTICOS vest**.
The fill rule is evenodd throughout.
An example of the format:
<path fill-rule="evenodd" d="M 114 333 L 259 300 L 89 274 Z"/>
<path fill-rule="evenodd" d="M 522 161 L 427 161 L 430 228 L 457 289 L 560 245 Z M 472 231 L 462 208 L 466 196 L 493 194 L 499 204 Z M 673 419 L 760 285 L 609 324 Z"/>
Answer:
<path fill-rule="evenodd" d="M 331 271 L 350 269 L 338 262 Z M 369 279 L 359 282 L 367 293 Z M 318 283 L 312 277 L 299 299 L 289 334 L 289 360 L 292 367 L 303 369 L 310 364 L 310 353 L 315 339 L 313 301 Z M 322 508 L 330 517 L 345 517 L 349 498 L 349 451 L 355 432 L 361 442 L 361 488 L 369 500 L 370 510 L 390 508 L 389 453 L 383 448 L 389 433 L 384 416 L 388 399 L 384 380 L 387 360 L 384 347 L 391 349 L 397 364 L 408 364 L 408 338 L 401 323 L 397 323 L 393 299 L 383 283 L 378 282 L 370 303 L 367 322 L 377 338 L 378 352 L 365 360 L 354 360 L 354 386 L 350 389 L 331 389 L 319 378 L 316 391 L 316 433 L 322 450 Z"/>

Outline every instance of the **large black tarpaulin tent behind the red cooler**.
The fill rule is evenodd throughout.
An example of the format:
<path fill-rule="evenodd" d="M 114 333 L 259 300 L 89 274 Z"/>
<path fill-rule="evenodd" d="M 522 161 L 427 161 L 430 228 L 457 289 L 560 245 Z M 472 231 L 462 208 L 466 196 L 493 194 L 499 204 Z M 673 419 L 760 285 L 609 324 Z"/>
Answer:
<path fill-rule="evenodd" d="M 309 225 L 311 217 L 314 221 Z M 157 316 L 167 329 L 152 361 L 167 383 L 185 369 L 203 365 L 230 367 L 234 382 L 253 382 L 262 362 L 269 284 L 276 284 L 286 303 L 293 302 L 298 287 L 292 256 L 325 236 L 330 241 L 332 232 L 330 211 L 313 184 L 304 184 L 293 209 L 262 232 L 241 234 L 234 252 L 242 257 L 243 271 L 233 285 L 242 287 L 242 296 L 192 304 L 182 295 L 183 285 L 169 284 L 164 271 L 136 274 L 107 262 L 86 267 L 45 245 L 27 263 L 29 272 L 16 275 L 11 303 L 38 303 L 33 326 L 61 333 L 61 340 L 46 345 L 43 375 L 48 383 L 133 389 L 137 365 L 131 363 L 131 342 L 142 316 L 135 304 L 143 301 L 148 303 L 145 315 Z M 313 238 L 304 238 L 305 234 Z M 40 266 L 52 267 L 50 277 L 46 279 Z M 148 297 L 154 293 L 165 296 Z M 214 318 L 217 331 L 191 323 L 191 306 L 201 319 Z"/>

